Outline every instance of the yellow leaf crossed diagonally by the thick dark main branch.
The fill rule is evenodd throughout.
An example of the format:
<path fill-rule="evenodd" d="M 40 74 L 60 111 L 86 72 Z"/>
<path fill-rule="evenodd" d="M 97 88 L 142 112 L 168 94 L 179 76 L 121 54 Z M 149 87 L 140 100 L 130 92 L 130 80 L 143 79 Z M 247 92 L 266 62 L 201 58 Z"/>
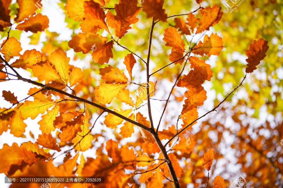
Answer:
<path fill-rule="evenodd" d="M 128 117 L 130 115 L 131 110 L 122 110 L 120 109 L 120 111 L 114 109 L 114 112 L 117 112 L 119 114 L 121 114 L 122 116 Z M 124 120 L 111 114 L 108 113 L 105 116 L 105 120 L 104 120 L 104 124 L 106 125 L 106 127 L 110 127 L 110 128 L 115 128 L 117 125 L 120 125 Z"/>

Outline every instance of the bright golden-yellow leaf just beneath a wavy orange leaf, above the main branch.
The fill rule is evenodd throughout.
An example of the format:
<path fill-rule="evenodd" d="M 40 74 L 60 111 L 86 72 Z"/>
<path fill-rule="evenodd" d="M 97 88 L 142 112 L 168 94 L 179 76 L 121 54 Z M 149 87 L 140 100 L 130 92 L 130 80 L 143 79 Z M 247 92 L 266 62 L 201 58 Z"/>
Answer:
<path fill-rule="evenodd" d="M 127 86 L 128 84 L 106 84 L 101 82 L 100 86 L 95 88 L 95 99 L 102 104 L 110 104 Z"/>

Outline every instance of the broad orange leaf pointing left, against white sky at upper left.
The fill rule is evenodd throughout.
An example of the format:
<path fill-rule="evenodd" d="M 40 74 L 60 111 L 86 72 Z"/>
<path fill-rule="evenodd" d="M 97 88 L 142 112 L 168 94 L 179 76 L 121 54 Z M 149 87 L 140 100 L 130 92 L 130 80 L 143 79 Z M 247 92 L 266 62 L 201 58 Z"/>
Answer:
<path fill-rule="evenodd" d="M 41 13 L 31 16 L 29 19 L 25 20 L 23 23 L 19 24 L 16 29 L 21 31 L 31 31 L 32 33 L 37 33 L 38 31 L 44 31 L 49 27 L 49 19 L 47 16 L 42 16 Z"/>

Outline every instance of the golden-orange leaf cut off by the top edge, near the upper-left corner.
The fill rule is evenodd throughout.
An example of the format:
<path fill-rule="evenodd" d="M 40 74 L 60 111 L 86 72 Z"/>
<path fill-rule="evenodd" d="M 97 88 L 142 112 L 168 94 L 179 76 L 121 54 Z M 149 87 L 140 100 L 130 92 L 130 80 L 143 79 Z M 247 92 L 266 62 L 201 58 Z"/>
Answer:
<path fill-rule="evenodd" d="M 19 8 L 17 8 L 16 22 L 24 21 L 25 18 L 29 18 L 30 15 L 35 14 L 38 7 L 35 5 L 42 7 L 41 2 L 38 2 L 38 0 L 17 0 L 17 3 Z"/>

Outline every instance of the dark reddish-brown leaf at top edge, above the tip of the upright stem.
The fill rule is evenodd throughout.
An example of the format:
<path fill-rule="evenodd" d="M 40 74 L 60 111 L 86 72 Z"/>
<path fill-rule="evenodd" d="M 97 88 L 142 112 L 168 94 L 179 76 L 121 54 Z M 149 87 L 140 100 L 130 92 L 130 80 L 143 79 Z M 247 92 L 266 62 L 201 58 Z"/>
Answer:
<path fill-rule="evenodd" d="M 163 3 L 163 0 L 145 0 L 142 10 L 147 13 L 147 18 L 153 17 L 153 20 L 166 22 L 167 14 L 165 14 L 165 9 L 162 9 Z"/>

